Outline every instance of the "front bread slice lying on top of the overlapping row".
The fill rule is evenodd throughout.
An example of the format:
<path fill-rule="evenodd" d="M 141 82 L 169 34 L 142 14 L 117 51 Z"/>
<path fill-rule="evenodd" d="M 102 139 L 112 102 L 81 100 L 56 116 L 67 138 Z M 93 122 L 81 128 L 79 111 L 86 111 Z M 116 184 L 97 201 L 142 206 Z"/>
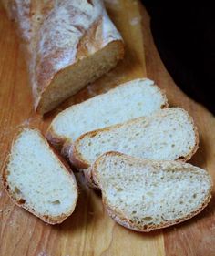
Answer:
<path fill-rule="evenodd" d="M 130 230 L 178 224 L 200 213 L 211 198 L 208 172 L 178 161 L 108 152 L 97 159 L 92 173 L 108 214 Z"/>

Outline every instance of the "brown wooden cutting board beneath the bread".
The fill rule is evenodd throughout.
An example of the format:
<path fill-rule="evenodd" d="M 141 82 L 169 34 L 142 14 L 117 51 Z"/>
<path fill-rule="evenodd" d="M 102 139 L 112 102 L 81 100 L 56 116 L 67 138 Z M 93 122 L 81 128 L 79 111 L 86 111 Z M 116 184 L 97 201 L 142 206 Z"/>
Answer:
<path fill-rule="evenodd" d="M 126 57 L 116 69 L 72 97 L 60 108 L 41 118 L 32 108 L 26 66 L 9 22 L 0 6 L 0 152 L 1 169 L 15 131 L 23 126 L 46 131 L 56 113 L 69 104 L 107 91 L 135 77 L 154 79 L 165 88 L 170 106 L 189 111 L 200 131 L 200 149 L 191 160 L 208 169 L 215 179 L 215 118 L 186 97 L 174 84 L 159 59 L 149 31 L 145 9 L 135 0 L 107 1 L 109 15 L 126 42 Z M 138 233 L 116 224 L 101 204 L 100 196 L 80 184 L 75 213 L 63 224 L 48 226 L 15 206 L 0 185 L 1 256 L 212 256 L 215 255 L 215 197 L 199 216 L 185 223 L 150 233 Z"/>

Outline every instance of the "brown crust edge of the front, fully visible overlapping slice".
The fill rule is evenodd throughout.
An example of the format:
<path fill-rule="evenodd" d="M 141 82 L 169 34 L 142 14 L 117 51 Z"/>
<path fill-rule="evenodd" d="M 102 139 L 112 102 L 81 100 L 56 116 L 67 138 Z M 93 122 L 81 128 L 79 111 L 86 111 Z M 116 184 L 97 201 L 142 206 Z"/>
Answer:
<path fill-rule="evenodd" d="M 136 158 L 127 156 L 125 154 L 121 154 L 119 152 L 114 152 L 114 151 L 110 151 L 107 152 L 105 154 L 103 154 L 101 157 L 99 157 L 97 159 L 97 161 L 94 163 L 92 169 L 91 169 L 91 176 L 93 177 L 93 180 L 97 180 L 95 183 L 97 184 L 97 186 L 99 187 L 99 189 L 102 188 L 100 187 L 99 184 L 99 180 L 97 178 L 97 166 L 99 165 L 99 161 L 101 159 L 104 159 L 106 156 L 118 156 L 118 157 L 123 157 L 123 158 L 127 158 L 127 159 L 131 159 L 134 160 Z M 150 163 L 151 160 L 143 160 L 143 159 L 136 159 L 138 161 L 143 161 L 144 163 Z M 169 162 L 169 161 L 163 161 L 163 162 Z M 174 163 L 174 161 L 170 161 L 171 163 Z M 155 161 L 153 160 L 153 163 L 158 163 L 159 165 L 159 161 Z M 190 167 L 192 167 L 190 164 L 187 164 Z M 92 178 L 91 178 L 92 179 Z M 180 222 L 183 222 L 185 220 L 189 220 L 192 217 L 194 217 L 195 215 L 199 214 L 200 211 L 204 210 L 205 207 L 209 204 L 210 199 L 211 199 L 211 192 L 212 192 L 212 180 L 210 179 L 210 190 L 208 195 L 205 197 L 204 201 L 202 202 L 202 204 L 200 205 L 200 207 L 196 210 L 193 210 L 192 212 L 190 212 L 187 216 L 185 216 L 184 218 L 179 218 L 176 220 L 167 220 L 167 221 L 163 221 L 162 223 L 160 223 L 159 225 L 156 224 L 151 224 L 148 225 L 147 223 L 145 225 L 138 225 L 137 223 L 134 223 L 133 221 L 129 220 L 128 216 L 126 216 L 122 211 L 116 209 L 116 208 L 112 208 L 108 205 L 107 202 L 107 198 L 104 197 L 103 193 L 102 193 L 102 202 L 107 210 L 108 215 L 115 220 L 116 222 L 118 222 L 119 225 L 128 228 L 129 230 L 135 230 L 138 232 L 149 232 L 151 230 L 158 230 L 158 229 L 163 229 L 163 228 L 167 228 L 169 226 L 175 225 L 175 224 L 179 224 Z"/>

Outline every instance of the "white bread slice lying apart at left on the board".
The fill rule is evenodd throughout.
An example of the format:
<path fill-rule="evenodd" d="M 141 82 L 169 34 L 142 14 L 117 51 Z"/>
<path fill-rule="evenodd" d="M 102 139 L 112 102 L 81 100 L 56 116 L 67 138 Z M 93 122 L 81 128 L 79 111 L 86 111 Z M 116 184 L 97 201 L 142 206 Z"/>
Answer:
<path fill-rule="evenodd" d="M 35 129 L 23 129 L 15 138 L 3 182 L 18 206 L 49 224 L 67 219 L 77 204 L 75 176 Z"/>

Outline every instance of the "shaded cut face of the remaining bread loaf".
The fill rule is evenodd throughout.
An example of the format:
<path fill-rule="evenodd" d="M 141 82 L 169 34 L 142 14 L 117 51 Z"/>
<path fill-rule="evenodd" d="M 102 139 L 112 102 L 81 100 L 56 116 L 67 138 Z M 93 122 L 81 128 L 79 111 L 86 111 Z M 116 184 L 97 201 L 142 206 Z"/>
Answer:
<path fill-rule="evenodd" d="M 67 97 L 73 96 L 81 88 L 115 67 L 123 56 L 123 42 L 116 40 L 95 54 L 82 58 L 77 63 L 58 71 L 36 103 L 36 111 L 43 115 L 56 108 Z"/>

